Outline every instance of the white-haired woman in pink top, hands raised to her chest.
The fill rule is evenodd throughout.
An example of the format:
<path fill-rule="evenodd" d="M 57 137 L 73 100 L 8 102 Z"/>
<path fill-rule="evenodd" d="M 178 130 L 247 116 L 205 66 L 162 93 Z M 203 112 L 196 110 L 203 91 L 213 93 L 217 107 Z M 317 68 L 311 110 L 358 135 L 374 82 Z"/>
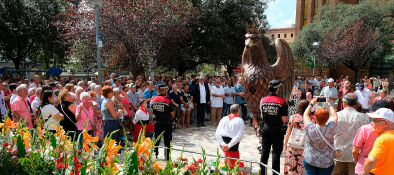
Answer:
<path fill-rule="evenodd" d="M 82 103 L 77 106 L 75 112 L 76 120 L 78 121 L 78 135 L 82 133 L 85 128 L 85 123 L 89 121 L 86 130 L 88 131 L 88 134 L 93 137 L 91 124 L 94 124 L 93 118 L 97 115 L 96 110 L 93 110 L 93 103 L 90 101 L 90 94 L 88 92 L 82 92 L 79 98 Z M 82 138 L 80 141 L 82 141 Z"/>

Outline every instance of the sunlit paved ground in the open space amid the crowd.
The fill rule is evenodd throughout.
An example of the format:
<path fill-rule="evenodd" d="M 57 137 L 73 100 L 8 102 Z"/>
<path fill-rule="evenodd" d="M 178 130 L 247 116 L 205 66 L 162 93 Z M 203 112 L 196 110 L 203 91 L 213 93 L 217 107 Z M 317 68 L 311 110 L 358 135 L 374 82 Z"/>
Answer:
<path fill-rule="evenodd" d="M 212 125 L 211 122 L 205 122 L 206 127 L 196 127 L 195 124 L 191 124 L 192 128 L 185 129 L 175 129 L 173 132 L 173 148 L 182 149 L 183 143 L 185 143 L 185 150 L 193 151 L 197 153 L 202 153 L 201 147 L 205 149 L 206 154 L 216 155 L 216 149 L 219 148 L 219 145 L 215 138 L 216 126 Z M 161 141 L 160 146 L 164 146 Z M 240 150 L 240 158 L 251 161 L 260 161 L 260 154 L 256 147 L 258 146 L 258 140 L 254 133 L 252 127 L 247 124 L 245 126 L 244 137 L 239 145 Z M 219 154 L 224 156 L 224 153 L 219 149 Z M 172 159 L 176 159 L 180 156 L 180 151 L 172 152 Z M 192 153 L 183 153 L 183 157 L 188 158 L 189 160 L 192 157 L 196 159 L 201 158 L 201 155 L 192 154 Z M 159 158 L 164 158 L 163 149 L 159 150 Z M 271 167 L 272 154 L 269 157 L 269 167 Z M 216 157 L 207 156 L 208 160 L 216 160 Z M 283 174 L 283 162 L 285 160 L 285 155 L 282 153 L 281 155 L 281 174 Z M 210 161 L 209 161 L 210 162 Z M 250 163 L 244 162 L 247 170 L 250 170 Z M 258 172 L 259 166 L 257 164 L 252 165 L 252 172 Z M 268 174 L 272 174 L 272 172 L 268 172 Z"/>

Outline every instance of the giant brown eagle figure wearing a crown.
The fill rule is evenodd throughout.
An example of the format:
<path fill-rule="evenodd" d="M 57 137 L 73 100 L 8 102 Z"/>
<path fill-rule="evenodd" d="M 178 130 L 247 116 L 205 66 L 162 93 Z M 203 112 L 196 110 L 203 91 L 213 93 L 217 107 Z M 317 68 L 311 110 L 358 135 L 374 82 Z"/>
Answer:
<path fill-rule="evenodd" d="M 254 27 L 254 22 L 252 27 Z M 260 100 L 269 94 L 269 81 L 276 79 L 282 82 L 283 87 L 280 88 L 278 95 L 286 101 L 295 83 L 294 58 L 290 46 L 280 38 L 275 40 L 275 46 L 278 60 L 274 65 L 269 65 L 259 29 L 247 30 L 241 69 L 246 89 L 245 100 L 251 109 L 252 118 L 259 116 Z M 260 118 L 258 117 L 258 119 Z"/>

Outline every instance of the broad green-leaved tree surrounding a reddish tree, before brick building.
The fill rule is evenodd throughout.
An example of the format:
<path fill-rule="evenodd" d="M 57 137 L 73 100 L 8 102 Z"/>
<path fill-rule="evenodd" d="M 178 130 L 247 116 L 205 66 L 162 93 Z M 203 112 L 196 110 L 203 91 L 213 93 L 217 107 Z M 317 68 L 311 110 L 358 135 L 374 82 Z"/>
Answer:
<path fill-rule="evenodd" d="M 375 50 L 370 54 L 360 55 L 362 59 L 366 59 L 365 63 L 368 63 L 371 58 L 374 58 L 376 53 L 380 54 L 387 54 L 386 51 L 390 49 L 383 49 L 383 46 L 390 46 L 390 35 L 393 33 L 393 22 L 390 21 L 391 18 L 394 17 L 394 0 L 390 1 L 381 1 L 381 0 L 363 0 L 360 1 L 356 5 L 351 4 L 343 4 L 337 3 L 332 6 L 325 5 L 323 6 L 318 14 L 316 15 L 313 22 L 308 23 L 304 26 L 303 30 L 297 35 L 296 40 L 293 43 L 293 54 L 296 59 L 306 61 L 306 62 L 313 62 L 312 57 L 310 57 L 311 53 L 314 51 L 312 44 L 313 42 L 319 41 L 320 43 L 323 42 L 323 39 L 335 39 L 334 37 L 325 38 L 329 35 L 330 32 L 337 31 L 337 32 L 349 32 L 349 25 L 350 23 L 354 23 L 357 21 L 363 21 L 363 26 L 366 31 L 372 29 L 372 31 L 377 35 L 377 41 L 375 44 Z M 332 33 L 335 34 L 335 33 Z M 337 36 L 342 36 L 344 34 L 338 34 Z M 340 39 L 340 38 L 339 38 Z M 366 39 L 366 38 L 364 38 Z M 350 40 L 349 40 L 350 41 Z M 328 42 L 328 40 L 326 40 Z M 336 44 L 335 42 L 333 43 Z M 374 46 L 374 47 L 375 47 Z M 326 47 L 325 45 L 321 44 L 320 48 Z M 341 46 L 337 46 L 341 47 Z M 330 47 L 334 49 L 334 47 Z M 320 57 L 320 56 L 319 56 Z M 320 59 L 317 57 L 317 59 Z M 328 57 L 327 57 L 328 58 Z M 325 62 L 329 61 L 330 59 L 323 59 L 318 61 L 319 66 L 328 67 L 332 66 L 332 62 Z M 334 66 L 339 66 L 341 64 L 347 66 L 349 69 L 357 71 L 354 65 L 359 64 L 355 62 L 335 62 Z M 365 65 L 360 65 L 361 67 Z M 358 76 L 358 75 L 357 75 Z M 358 79 L 358 77 L 356 77 Z"/>

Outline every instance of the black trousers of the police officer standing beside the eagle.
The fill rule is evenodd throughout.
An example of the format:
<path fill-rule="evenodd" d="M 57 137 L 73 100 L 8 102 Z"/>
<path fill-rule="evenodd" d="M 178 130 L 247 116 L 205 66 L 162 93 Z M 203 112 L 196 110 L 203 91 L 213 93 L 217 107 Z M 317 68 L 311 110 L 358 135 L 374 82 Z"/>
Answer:
<path fill-rule="evenodd" d="M 280 172 L 280 158 L 283 150 L 283 140 L 285 139 L 283 132 L 280 131 L 279 127 L 269 128 L 267 125 L 264 125 L 260 134 L 263 142 L 263 152 L 261 154 L 260 162 L 264 164 L 268 163 L 269 151 L 272 146 L 272 169 Z M 262 165 L 260 165 L 260 167 L 264 169 Z M 265 171 L 262 171 L 261 175 L 265 175 Z"/>

